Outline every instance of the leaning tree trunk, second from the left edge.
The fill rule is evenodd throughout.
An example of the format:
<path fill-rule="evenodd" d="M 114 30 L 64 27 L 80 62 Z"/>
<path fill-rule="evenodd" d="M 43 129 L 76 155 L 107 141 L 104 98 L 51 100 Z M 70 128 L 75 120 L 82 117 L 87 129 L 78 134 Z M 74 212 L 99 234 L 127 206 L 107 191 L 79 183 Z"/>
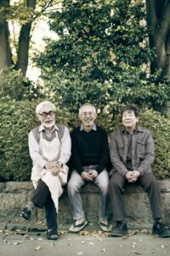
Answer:
<path fill-rule="evenodd" d="M 36 0 L 27 0 L 26 6 L 35 9 Z M 21 27 L 20 30 L 18 61 L 16 63 L 16 68 L 20 69 L 24 75 L 26 75 L 26 70 L 28 67 L 31 24 L 32 21 L 26 23 Z"/>

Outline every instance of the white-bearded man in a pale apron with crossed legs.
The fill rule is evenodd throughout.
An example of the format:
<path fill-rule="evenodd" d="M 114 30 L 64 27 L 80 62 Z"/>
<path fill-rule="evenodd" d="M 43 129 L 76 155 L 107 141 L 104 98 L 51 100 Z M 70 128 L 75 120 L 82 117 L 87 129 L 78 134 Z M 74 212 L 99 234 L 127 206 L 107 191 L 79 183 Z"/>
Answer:
<path fill-rule="evenodd" d="M 58 239 L 57 212 L 62 186 L 67 182 L 67 161 L 71 156 L 71 137 L 65 125 L 55 124 L 55 107 L 51 102 L 41 102 L 36 108 L 41 125 L 29 133 L 29 150 L 33 163 L 31 181 L 34 193 L 20 212 L 26 220 L 35 207 L 45 207 L 47 237 Z"/>

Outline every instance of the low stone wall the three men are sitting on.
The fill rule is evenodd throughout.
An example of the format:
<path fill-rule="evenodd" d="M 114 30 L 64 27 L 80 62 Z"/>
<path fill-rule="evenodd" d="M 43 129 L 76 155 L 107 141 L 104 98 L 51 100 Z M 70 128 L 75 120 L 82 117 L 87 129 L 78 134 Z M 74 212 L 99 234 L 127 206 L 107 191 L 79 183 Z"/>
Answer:
<path fill-rule="evenodd" d="M 170 180 L 160 181 L 162 212 L 167 224 L 170 224 Z M 7 182 L 0 183 L 0 223 L 1 224 L 26 224 L 27 222 L 20 218 L 20 209 L 30 200 L 33 191 L 31 182 Z M 99 212 L 99 190 L 91 183 L 82 188 L 82 202 L 84 212 L 88 221 L 95 222 L 98 219 Z M 150 204 L 147 195 L 143 189 L 135 184 L 127 186 L 123 195 L 128 223 L 151 224 L 152 217 Z M 109 211 L 111 219 L 111 206 Z M 59 224 L 71 224 L 71 204 L 66 194 L 59 199 Z M 35 211 L 29 224 L 45 223 L 44 211 L 38 209 Z"/>

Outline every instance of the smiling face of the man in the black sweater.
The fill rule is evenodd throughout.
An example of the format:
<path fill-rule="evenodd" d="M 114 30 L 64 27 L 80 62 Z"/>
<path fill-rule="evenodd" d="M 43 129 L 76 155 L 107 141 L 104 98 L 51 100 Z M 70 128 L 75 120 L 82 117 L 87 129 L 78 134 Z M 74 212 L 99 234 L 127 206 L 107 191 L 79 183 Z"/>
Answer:
<path fill-rule="evenodd" d="M 82 121 L 82 126 L 85 131 L 92 130 L 96 117 L 97 114 L 94 112 L 94 108 L 91 106 L 82 107 L 82 112 L 79 114 L 79 118 Z"/>

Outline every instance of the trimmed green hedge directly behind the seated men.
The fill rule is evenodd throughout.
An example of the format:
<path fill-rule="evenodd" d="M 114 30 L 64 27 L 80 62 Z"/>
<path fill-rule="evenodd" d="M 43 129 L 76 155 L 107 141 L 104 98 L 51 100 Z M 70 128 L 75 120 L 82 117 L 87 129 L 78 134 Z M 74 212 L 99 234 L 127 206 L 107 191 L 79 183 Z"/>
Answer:
<path fill-rule="evenodd" d="M 26 181 L 31 176 L 28 133 L 38 125 L 37 102 L 0 103 L 0 176 L 7 180 Z M 57 122 L 72 127 L 78 125 L 77 115 L 57 109 Z M 114 131 L 121 124 L 118 115 L 99 114 L 98 124 Z M 152 132 L 156 144 L 153 172 L 158 178 L 170 177 L 170 120 L 151 110 L 140 113 L 140 124 Z"/>

